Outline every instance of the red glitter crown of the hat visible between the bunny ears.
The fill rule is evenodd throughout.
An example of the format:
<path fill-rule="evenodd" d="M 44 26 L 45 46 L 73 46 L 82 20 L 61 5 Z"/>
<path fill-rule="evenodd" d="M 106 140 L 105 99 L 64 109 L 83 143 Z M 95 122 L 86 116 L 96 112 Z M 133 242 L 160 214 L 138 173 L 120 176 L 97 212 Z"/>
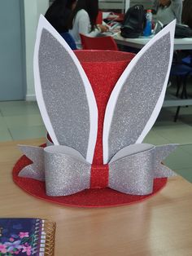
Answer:
<path fill-rule="evenodd" d="M 94 91 L 98 106 L 98 136 L 93 164 L 103 164 L 103 121 L 107 102 L 116 82 L 134 54 L 121 51 L 75 51 Z"/>

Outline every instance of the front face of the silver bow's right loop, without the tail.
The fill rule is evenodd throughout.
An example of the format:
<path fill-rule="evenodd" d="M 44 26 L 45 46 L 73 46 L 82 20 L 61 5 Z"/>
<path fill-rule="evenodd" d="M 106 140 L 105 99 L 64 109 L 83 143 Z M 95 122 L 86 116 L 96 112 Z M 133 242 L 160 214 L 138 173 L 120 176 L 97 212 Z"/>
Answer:
<path fill-rule="evenodd" d="M 109 164 L 109 187 L 132 195 L 153 191 L 153 153 L 148 150 Z"/>

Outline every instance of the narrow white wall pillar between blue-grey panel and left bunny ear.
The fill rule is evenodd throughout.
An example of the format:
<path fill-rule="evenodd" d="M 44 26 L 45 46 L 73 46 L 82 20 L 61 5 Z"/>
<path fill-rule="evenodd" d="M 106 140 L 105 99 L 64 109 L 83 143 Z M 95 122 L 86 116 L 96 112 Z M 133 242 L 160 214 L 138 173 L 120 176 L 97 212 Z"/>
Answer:
<path fill-rule="evenodd" d="M 26 49 L 26 100 L 35 99 L 33 77 L 33 51 L 40 14 L 45 14 L 49 0 L 24 0 L 25 49 Z"/>

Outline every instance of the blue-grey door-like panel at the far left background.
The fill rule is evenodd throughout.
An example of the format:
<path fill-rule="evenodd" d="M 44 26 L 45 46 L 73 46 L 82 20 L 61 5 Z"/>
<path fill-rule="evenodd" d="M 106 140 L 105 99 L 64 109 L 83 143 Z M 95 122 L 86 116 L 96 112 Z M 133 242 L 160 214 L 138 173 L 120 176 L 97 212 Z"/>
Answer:
<path fill-rule="evenodd" d="M 0 100 L 25 97 L 24 6 L 20 0 L 0 7 Z"/>

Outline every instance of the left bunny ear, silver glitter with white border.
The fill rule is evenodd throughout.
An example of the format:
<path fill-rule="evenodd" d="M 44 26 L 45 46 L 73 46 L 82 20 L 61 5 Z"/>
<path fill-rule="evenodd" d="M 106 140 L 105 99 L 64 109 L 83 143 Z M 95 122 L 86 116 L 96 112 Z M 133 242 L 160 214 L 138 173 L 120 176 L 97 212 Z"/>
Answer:
<path fill-rule="evenodd" d="M 68 44 L 41 15 L 34 51 L 37 104 L 55 144 L 75 148 L 91 163 L 98 108 L 89 80 Z"/>

